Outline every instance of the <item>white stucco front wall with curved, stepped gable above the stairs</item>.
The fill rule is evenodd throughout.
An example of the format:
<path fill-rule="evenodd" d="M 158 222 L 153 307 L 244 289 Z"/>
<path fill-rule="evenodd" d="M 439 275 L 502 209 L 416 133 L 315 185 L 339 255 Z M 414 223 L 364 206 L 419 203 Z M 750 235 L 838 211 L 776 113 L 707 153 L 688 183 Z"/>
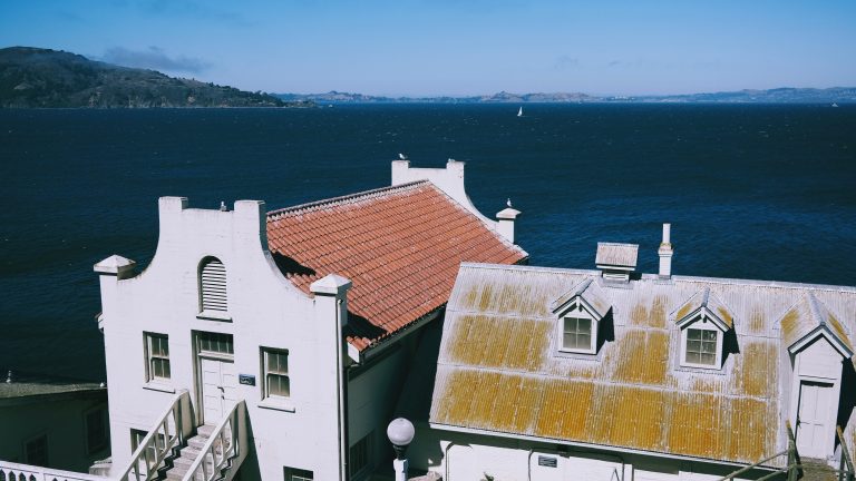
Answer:
<path fill-rule="evenodd" d="M 283 467 L 339 478 L 335 323 L 346 306 L 334 296 L 310 297 L 280 274 L 266 249 L 263 203 L 220 212 L 165 197 L 159 214 L 150 265 L 130 278 L 101 275 L 114 473 L 132 454 L 130 430 L 148 431 L 174 391 L 188 390 L 198 414 L 193 333 L 213 332 L 234 336 L 235 373 L 255 376 L 255 386 L 237 385 L 236 393 L 246 400 L 261 478 L 282 479 Z M 225 266 L 230 322 L 197 318 L 197 272 L 206 256 Z M 146 384 L 144 332 L 169 336 L 168 383 Z M 261 402 L 260 346 L 289 351 L 290 410 Z"/>

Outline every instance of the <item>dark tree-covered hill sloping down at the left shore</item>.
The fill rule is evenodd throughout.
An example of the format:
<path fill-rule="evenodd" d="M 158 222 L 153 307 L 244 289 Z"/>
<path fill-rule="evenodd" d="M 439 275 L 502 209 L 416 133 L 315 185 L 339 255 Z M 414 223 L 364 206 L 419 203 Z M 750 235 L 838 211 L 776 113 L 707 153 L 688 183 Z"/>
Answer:
<path fill-rule="evenodd" d="M 154 70 L 119 67 L 30 47 L 0 49 L 0 107 L 290 107 L 268 94 L 247 92 Z"/>

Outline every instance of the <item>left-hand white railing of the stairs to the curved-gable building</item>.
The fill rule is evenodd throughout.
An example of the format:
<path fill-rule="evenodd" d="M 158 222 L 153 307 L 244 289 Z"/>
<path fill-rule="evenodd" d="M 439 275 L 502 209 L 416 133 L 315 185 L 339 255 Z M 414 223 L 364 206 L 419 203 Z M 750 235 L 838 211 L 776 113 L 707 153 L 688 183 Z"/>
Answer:
<path fill-rule="evenodd" d="M 119 481 L 144 481 L 157 478 L 157 469 L 164 463 L 174 448 L 184 444 L 184 439 L 193 430 L 191 415 L 191 395 L 182 391 L 158 421 L 139 442 L 130 462 Z"/>

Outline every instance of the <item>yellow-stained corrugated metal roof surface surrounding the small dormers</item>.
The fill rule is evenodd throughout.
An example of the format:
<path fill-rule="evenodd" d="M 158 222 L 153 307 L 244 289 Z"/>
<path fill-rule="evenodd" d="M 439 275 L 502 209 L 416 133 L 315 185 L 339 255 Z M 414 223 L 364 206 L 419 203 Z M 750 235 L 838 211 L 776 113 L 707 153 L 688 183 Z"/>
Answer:
<path fill-rule="evenodd" d="M 554 304 L 586 281 L 612 306 L 614 340 L 596 357 L 557 355 Z M 728 306 L 739 346 L 721 371 L 681 367 L 670 322 L 704 291 Z M 807 294 L 853 332 L 852 287 L 650 275 L 611 286 L 595 271 L 464 264 L 446 308 L 430 422 L 753 463 L 786 446 L 781 320 Z"/>

